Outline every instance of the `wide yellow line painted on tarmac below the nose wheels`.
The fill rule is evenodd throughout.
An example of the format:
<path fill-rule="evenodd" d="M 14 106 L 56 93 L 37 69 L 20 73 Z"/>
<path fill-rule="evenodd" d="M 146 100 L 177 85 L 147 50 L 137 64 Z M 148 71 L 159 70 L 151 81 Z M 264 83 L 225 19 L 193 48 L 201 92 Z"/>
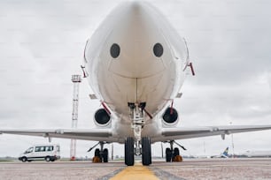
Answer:
<path fill-rule="evenodd" d="M 113 176 L 111 180 L 157 180 L 159 179 L 154 173 L 143 166 L 141 163 L 136 163 L 135 166 L 129 166 L 126 169 L 123 169 L 116 176 Z"/>

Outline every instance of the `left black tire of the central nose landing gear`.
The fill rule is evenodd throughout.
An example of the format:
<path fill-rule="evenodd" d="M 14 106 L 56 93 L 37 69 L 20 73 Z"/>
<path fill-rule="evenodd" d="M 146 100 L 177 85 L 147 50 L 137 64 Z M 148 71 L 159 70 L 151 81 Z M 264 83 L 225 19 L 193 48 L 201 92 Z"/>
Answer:
<path fill-rule="evenodd" d="M 134 155 L 134 139 L 128 137 L 125 139 L 124 145 L 124 153 L 125 153 L 125 164 L 128 166 L 134 166 L 135 163 L 135 155 Z"/>

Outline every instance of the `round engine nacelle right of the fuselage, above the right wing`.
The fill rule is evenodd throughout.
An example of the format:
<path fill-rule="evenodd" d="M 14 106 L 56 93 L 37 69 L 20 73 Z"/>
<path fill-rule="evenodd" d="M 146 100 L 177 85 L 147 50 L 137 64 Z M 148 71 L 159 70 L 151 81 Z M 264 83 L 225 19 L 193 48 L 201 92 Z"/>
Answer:
<path fill-rule="evenodd" d="M 174 126 L 178 123 L 178 112 L 174 108 L 167 108 L 162 116 L 163 124 L 165 126 Z"/>

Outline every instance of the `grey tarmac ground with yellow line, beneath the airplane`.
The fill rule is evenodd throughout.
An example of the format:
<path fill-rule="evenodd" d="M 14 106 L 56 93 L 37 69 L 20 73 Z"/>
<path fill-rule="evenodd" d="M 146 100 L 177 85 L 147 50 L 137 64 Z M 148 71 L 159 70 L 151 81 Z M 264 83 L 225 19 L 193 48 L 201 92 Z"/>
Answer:
<path fill-rule="evenodd" d="M 151 166 L 127 167 L 123 161 L 0 162 L 0 179 L 271 179 L 271 158 L 153 160 Z"/>

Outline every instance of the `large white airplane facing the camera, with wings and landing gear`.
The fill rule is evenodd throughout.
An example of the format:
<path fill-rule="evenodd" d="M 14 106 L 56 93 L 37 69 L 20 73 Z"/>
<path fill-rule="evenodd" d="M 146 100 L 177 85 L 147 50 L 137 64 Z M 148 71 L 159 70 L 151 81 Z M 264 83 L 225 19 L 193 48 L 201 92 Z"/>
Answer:
<path fill-rule="evenodd" d="M 166 161 L 179 155 L 175 139 L 191 139 L 271 129 L 271 125 L 176 127 L 174 98 L 186 71 L 193 72 L 186 41 L 154 7 L 140 2 L 121 4 L 87 41 L 84 74 L 103 105 L 94 129 L 0 130 L 0 133 L 99 141 L 96 156 L 107 161 L 105 143 L 124 144 L 125 164 L 142 154 L 151 164 L 151 144 L 169 142 Z M 194 72 L 193 72 L 194 73 Z"/>

